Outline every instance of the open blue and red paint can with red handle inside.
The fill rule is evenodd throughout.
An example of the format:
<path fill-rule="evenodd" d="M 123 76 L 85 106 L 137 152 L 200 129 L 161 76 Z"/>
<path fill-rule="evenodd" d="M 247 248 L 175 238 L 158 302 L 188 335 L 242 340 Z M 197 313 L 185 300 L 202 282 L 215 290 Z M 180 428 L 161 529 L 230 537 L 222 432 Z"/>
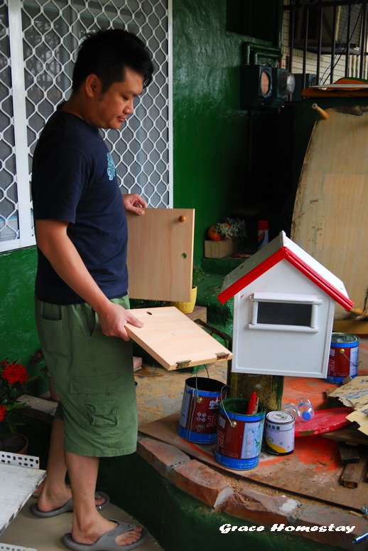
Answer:
<path fill-rule="evenodd" d="M 228 468 L 249 469 L 259 463 L 266 411 L 259 406 L 256 414 L 247 415 L 248 400 L 222 400 L 217 424 L 215 459 Z"/>

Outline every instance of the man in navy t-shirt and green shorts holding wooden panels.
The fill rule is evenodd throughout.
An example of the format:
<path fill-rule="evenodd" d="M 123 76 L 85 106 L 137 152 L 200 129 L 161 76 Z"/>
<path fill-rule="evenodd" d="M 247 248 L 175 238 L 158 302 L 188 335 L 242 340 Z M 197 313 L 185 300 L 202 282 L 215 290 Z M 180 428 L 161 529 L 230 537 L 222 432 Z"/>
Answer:
<path fill-rule="evenodd" d="M 151 57 L 118 29 L 82 42 L 72 95 L 45 126 L 33 157 L 38 247 L 36 324 L 63 419 L 53 424 L 47 477 L 33 513 L 73 510 L 70 549 L 131 549 L 141 527 L 103 518 L 95 495 L 99 457 L 133 453 L 137 416 L 128 313 L 125 212 L 146 201 L 121 197 L 99 128 L 119 130 L 151 82 Z M 65 484 L 68 473 L 70 488 Z"/>

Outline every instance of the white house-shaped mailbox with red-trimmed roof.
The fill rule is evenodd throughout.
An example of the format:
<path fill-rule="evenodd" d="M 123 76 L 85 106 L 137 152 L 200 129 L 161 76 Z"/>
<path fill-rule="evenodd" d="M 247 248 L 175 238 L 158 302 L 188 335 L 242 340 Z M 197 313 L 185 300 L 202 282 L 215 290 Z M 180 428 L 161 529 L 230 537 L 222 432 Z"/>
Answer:
<path fill-rule="evenodd" d="M 232 371 L 326 377 L 335 301 L 354 305 L 340 279 L 281 231 L 224 278 L 232 297 Z"/>

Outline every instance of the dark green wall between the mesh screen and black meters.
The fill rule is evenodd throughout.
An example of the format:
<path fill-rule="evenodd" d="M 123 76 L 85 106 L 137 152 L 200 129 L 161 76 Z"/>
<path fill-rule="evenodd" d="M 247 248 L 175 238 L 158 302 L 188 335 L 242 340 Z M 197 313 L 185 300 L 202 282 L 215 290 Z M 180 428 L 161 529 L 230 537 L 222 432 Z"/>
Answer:
<path fill-rule="evenodd" d="M 174 0 L 174 206 L 195 208 L 195 261 L 207 227 L 247 194 L 242 41 L 226 31 L 225 0 Z"/>

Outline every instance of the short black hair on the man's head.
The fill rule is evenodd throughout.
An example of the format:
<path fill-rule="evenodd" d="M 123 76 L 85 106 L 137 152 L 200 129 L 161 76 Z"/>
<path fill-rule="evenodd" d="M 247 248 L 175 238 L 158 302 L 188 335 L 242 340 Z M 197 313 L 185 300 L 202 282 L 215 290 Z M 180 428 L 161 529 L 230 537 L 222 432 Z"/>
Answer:
<path fill-rule="evenodd" d="M 72 75 L 72 90 L 77 92 L 88 75 L 97 75 L 102 93 L 124 80 L 124 68 L 143 75 L 144 87 L 152 80 L 153 63 L 146 45 L 138 36 L 114 28 L 89 33 L 82 42 Z"/>

